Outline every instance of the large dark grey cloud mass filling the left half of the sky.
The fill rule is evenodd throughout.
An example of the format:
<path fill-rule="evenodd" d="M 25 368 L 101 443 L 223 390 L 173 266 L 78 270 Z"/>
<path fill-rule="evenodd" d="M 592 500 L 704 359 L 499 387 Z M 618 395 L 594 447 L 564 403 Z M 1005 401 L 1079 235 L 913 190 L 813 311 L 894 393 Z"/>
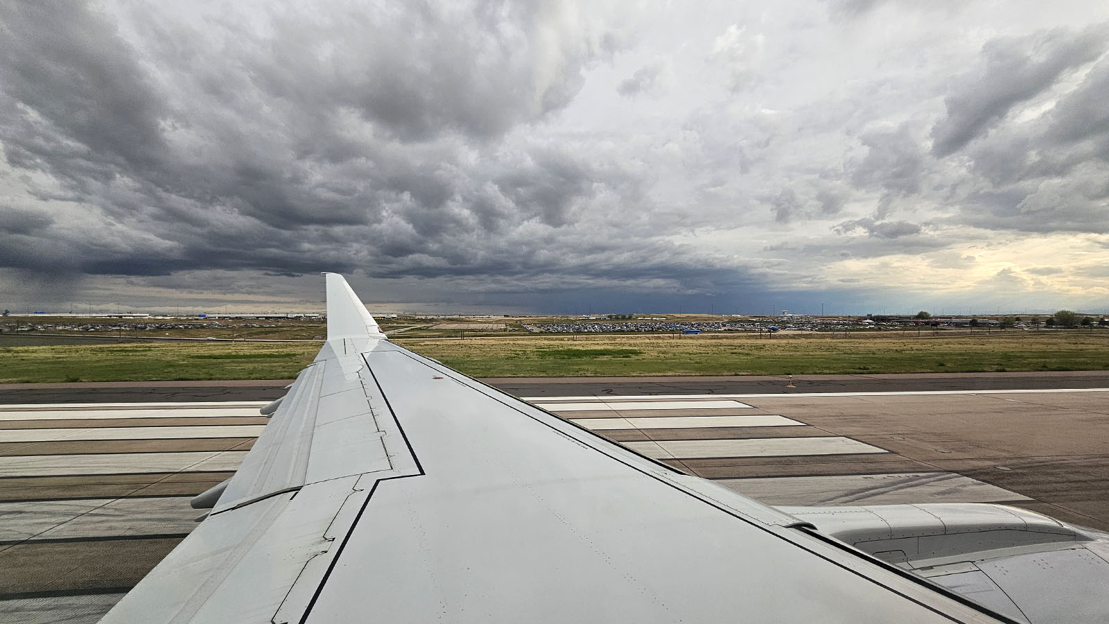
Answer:
<path fill-rule="evenodd" d="M 206 48 L 196 30 L 141 14 L 155 34 L 142 63 L 94 9 L 16 3 L 0 76 L 18 113 L 0 139 L 10 165 L 151 234 L 116 246 L 84 232 L 49 262 L 59 268 L 389 272 L 420 254 L 472 265 L 481 239 L 532 218 L 562 225 L 594 192 L 589 164 L 564 151 L 481 147 L 564 107 L 584 64 L 611 53 L 571 17 L 546 3 L 277 12 L 253 39 L 208 23 L 220 44 Z M 42 265 L 29 251 L 41 242 L 10 244 L 8 262 Z"/>

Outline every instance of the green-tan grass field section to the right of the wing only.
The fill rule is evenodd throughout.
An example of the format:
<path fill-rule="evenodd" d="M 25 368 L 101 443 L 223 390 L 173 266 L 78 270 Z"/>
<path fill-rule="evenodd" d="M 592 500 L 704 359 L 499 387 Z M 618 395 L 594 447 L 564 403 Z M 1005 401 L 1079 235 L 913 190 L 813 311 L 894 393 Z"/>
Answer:
<path fill-rule="evenodd" d="M 1109 370 L 1109 332 L 942 339 L 589 336 L 407 341 L 472 376 L 879 374 Z M 579 346 L 580 345 L 580 346 Z"/>

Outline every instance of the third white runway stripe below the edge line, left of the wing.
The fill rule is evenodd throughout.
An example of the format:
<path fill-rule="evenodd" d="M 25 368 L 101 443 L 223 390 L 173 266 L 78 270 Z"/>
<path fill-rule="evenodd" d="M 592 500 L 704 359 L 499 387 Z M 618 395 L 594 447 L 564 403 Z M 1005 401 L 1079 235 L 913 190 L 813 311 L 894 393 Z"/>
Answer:
<path fill-rule="evenodd" d="M 246 451 L 0 457 L 0 476 L 232 471 Z"/>

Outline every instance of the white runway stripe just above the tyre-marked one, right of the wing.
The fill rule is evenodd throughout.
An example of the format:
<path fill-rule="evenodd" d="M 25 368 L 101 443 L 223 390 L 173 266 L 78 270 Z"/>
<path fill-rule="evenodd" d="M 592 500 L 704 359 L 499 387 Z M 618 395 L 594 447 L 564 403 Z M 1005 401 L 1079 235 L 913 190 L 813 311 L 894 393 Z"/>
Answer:
<path fill-rule="evenodd" d="M 747 440 L 658 440 L 624 442 L 624 446 L 655 460 L 692 457 L 774 457 L 783 455 L 844 455 L 888 453 L 849 437 L 757 437 Z"/>

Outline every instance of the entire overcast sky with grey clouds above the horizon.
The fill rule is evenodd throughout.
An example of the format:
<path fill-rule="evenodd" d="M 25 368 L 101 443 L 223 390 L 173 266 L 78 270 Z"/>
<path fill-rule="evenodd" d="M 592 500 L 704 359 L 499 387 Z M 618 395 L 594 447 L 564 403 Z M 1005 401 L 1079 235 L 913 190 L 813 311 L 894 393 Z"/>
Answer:
<path fill-rule="evenodd" d="M 0 3 L 0 308 L 1109 309 L 1109 3 Z"/>

